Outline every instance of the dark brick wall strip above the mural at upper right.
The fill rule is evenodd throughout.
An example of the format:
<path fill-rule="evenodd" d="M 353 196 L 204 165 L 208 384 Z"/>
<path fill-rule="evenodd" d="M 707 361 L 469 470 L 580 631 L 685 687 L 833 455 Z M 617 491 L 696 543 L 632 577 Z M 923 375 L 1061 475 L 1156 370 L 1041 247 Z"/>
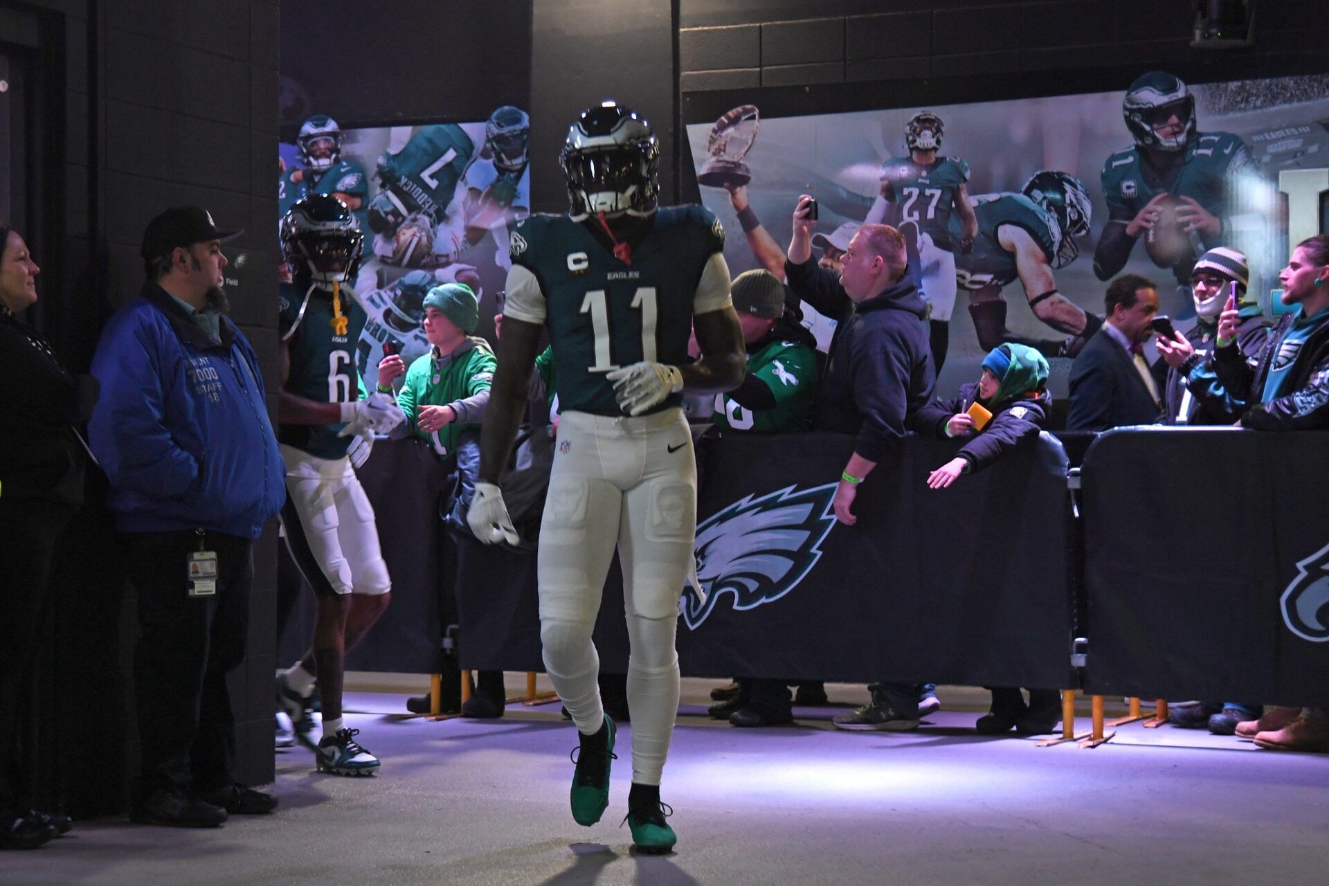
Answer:
<path fill-rule="evenodd" d="M 1189 46 L 1191 0 L 679 0 L 684 92 L 1321 57 L 1329 4 L 1260 0 L 1256 45 Z"/>

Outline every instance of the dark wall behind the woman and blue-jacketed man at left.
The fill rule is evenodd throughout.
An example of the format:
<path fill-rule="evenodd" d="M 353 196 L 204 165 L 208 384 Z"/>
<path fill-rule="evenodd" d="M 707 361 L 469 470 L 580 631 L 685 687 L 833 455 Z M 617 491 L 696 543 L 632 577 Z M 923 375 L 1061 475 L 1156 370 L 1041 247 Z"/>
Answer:
<path fill-rule="evenodd" d="M 275 389 L 276 3 L 0 0 L 3 5 L 40 19 L 43 57 L 64 58 L 41 97 L 62 120 L 37 175 L 53 221 L 39 259 L 58 256 L 58 268 L 51 268 L 57 272 L 39 283 L 40 325 L 73 368 L 85 369 L 105 317 L 142 286 L 138 243 L 148 221 L 166 206 L 201 203 L 223 227 L 246 231 L 229 250 L 246 256 L 242 283 L 231 292 L 234 317 Z M 124 806 L 136 769 L 128 680 L 134 619 L 132 592 L 110 567 L 114 546 L 104 513 L 93 505 L 81 519 L 85 535 L 65 554 L 66 587 L 44 658 L 41 680 L 53 697 L 41 705 L 41 733 L 51 740 L 40 765 L 54 773 L 45 780 L 53 805 L 92 814 Z M 231 683 L 238 776 L 254 784 L 271 781 L 274 772 L 275 541 L 270 530 L 255 547 L 250 654 Z M 89 747 L 110 761 L 89 764 Z"/>

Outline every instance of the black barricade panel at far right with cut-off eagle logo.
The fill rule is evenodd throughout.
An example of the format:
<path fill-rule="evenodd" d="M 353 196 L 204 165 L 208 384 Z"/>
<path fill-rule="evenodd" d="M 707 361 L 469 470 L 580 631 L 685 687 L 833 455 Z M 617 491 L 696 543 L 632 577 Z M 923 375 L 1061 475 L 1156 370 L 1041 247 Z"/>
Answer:
<path fill-rule="evenodd" d="M 1326 452 L 1326 432 L 1235 428 L 1090 448 L 1090 692 L 1329 704 Z"/>

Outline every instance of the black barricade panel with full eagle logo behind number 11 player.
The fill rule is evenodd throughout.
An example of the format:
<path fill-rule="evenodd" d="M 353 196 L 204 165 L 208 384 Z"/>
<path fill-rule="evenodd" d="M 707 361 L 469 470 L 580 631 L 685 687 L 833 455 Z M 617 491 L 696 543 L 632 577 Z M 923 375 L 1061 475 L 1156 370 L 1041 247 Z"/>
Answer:
<path fill-rule="evenodd" d="M 1066 456 L 1030 441 L 942 491 L 928 473 L 957 446 L 909 438 L 863 485 L 855 527 L 831 511 L 851 437 L 708 438 L 699 449 L 698 578 L 683 598 L 690 676 L 934 680 L 1057 688 L 1069 681 Z M 534 562 L 459 546 L 461 660 L 538 669 Z M 626 665 L 622 579 L 595 639 Z"/>

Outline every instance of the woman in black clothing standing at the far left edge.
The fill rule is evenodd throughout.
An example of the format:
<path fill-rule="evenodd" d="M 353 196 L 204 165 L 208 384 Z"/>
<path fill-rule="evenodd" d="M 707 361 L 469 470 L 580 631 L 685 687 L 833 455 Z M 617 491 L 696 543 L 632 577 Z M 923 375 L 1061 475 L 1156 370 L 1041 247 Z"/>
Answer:
<path fill-rule="evenodd" d="M 82 503 L 88 450 L 77 425 L 92 413 L 97 381 L 65 372 L 19 321 L 37 302 L 40 270 L 0 222 L 0 849 L 33 849 L 70 824 L 29 809 L 21 719 L 56 539 Z"/>

